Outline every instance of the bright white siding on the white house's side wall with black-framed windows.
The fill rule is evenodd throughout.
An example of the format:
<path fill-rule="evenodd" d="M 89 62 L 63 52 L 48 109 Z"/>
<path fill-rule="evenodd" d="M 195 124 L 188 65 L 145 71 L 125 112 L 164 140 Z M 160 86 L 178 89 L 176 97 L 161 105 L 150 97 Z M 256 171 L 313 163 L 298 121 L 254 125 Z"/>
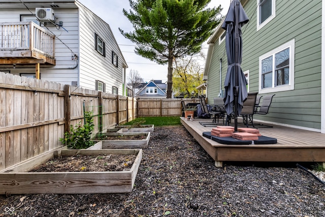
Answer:
<path fill-rule="evenodd" d="M 94 88 L 95 78 L 106 84 L 106 92 L 112 92 L 112 86 L 122 94 L 123 64 L 125 61 L 113 36 L 110 26 L 82 5 L 80 10 L 80 84 Z M 105 57 L 95 47 L 94 34 L 105 42 Z M 118 56 L 118 67 L 112 64 L 112 51 Z"/>

